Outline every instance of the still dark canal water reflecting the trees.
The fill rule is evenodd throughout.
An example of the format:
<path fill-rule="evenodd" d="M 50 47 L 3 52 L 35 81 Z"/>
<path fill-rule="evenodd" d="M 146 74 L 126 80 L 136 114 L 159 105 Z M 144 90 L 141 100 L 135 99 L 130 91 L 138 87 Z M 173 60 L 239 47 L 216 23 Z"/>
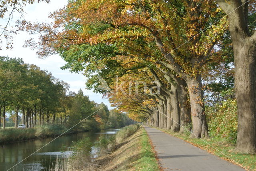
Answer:
<path fill-rule="evenodd" d="M 52 141 L 54 138 L 36 139 L 18 143 L 4 144 L 0 146 L 0 171 L 7 171 L 47 143 L 46 147 L 40 149 L 34 155 L 18 164 L 12 171 L 48 171 L 53 168 L 57 158 L 68 158 L 72 151 L 67 151 L 73 141 L 78 141 L 90 137 L 92 143 L 98 141 L 100 136 L 109 138 L 113 136 L 118 129 L 108 129 L 100 132 L 83 132 L 71 135 L 65 135 Z M 96 153 L 94 148 L 92 153 Z"/>

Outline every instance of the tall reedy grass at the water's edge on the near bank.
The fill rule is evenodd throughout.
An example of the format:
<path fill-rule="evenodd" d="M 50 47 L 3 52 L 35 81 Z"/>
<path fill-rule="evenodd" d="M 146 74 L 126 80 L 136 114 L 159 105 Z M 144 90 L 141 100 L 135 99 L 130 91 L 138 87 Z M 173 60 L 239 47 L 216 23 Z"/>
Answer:
<path fill-rule="evenodd" d="M 112 147 L 119 143 L 122 143 L 127 137 L 133 135 L 140 124 L 128 125 L 120 129 L 116 135 L 107 139 L 106 137 L 100 137 L 99 141 L 92 144 L 89 138 L 82 139 L 71 145 L 70 150 L 74 151 L 74 155 L 68 159 L 57 159 L 54 171 L 75 171 L 84 170 L 90 165 L 92 165 L 92 147 L 97 147 L 98 157 L 106 155 Z"/>

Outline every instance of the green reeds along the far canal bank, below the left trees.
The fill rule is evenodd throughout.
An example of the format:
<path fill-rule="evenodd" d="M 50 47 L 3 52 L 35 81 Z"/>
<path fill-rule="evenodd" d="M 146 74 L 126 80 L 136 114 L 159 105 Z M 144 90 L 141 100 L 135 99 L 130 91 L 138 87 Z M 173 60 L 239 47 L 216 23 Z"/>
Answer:
<path fill-rule="evenodd" d="M 38 125 L 34 128 L 0 130 L 0 143 L 24 141 L 27 139 L 52 137 L 62 134 L 67 128 L 62 125 Z"/>

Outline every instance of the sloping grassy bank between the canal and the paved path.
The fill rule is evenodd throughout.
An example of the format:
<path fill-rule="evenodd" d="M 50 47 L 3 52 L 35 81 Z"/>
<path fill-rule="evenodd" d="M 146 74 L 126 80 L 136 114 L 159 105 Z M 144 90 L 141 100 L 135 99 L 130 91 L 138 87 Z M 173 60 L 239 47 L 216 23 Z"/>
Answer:
<path fill-rule="evenodd" d="M 103 150 L 100 150 L 100 157 L 95 159 L 88 159 L 88 150 L 90 151 L 90 148 L 87 147 L 91 147 L 91 145 L 89 143 L 87 144 L 88 145 L 85 145 L 84 148 L 78 150 L 80 152 L 75 153 L 75 156 L 71 157 L 68 161 L 62 161 L 61 165 L 58 165 L 55 170 L 159 170 L 148 135 L 145 129 L 139 125 L 129 125 L 122 128 L 114 136 L 114 139 L 110 139 L 108 141 L 106 141 L 106 139 L 100 139 L 99 144 L 101 144 Z M 108 147 L 106 147 L 106 145 Z M 107 152 L 102 153 L 102 151 Z M 78 163 L 78 161 L 82 161 L 82 163 Z"/>

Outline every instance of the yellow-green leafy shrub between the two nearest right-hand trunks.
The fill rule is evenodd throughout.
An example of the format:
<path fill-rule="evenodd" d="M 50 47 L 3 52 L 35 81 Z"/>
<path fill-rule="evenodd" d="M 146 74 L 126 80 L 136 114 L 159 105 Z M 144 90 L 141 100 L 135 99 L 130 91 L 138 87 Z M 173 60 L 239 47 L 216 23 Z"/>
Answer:
<path fill-rule="evenodd" d="M 206 108 L 210 136 L 235 143 L 237 135 L 237 105 L 235 99 Z"/>

